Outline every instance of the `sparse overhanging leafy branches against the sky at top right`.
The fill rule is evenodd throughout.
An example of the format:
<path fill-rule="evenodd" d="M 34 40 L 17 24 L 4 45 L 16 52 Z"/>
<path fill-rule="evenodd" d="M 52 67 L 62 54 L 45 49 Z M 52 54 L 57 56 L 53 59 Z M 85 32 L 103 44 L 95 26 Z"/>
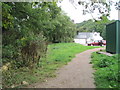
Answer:
<path fill-rule="evenodd" d="M 106 17 L 110 16 L 111 6 L 114 6 L 116 10 L 120 10 L 119 4 L 120 1 L 114 0 L 69 0 L 71 4 L 77 8 L 79 5 L 83 6 L 83 15 L 89 13 L 92 18 L 96 21 L 96 18 L 93 17 L 93 13 L 97 10 L 99 12 L 99 17 L 105 15 Z"/>

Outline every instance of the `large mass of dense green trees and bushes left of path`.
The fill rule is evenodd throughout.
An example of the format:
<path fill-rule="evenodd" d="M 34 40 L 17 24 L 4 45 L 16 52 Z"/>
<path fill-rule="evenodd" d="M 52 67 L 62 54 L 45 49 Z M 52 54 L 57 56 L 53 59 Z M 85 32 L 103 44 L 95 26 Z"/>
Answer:
<path fill-rule="evenodd" d="M 73 42 L 75 32 L 75 24 L 56 2 L 3 2 L 3 87 L 23 80 L 21 69 L 40 66 L 48 44 Z"/>

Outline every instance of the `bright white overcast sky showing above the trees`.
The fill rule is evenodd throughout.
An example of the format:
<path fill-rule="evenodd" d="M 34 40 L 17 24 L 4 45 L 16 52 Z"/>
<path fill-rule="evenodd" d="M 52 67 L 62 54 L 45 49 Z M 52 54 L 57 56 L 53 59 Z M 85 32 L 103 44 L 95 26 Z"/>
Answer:
<path fill-rule="evenodd" d="M 113 0 L 118 1 L 118 0 Z M 63 0 L 61 3 L 58 4 L 58 6 L 61 7 L 61 9 L 69 16 L 72 20 L 74 20 L 75 23 L 81 23 L 83 21 L 93 19 L 91 14 L 87 13 L 86 15 L 83 15 L 83 7 L 78 5 L 75 6 L 77 9 L 69 2 L 69 0 Z M 95 13 L 92 14 L 94 18 L 97 18 L 99 16 L 98 11 L 96 10 Z M 115 9 L 114 6 L 111 7 L 110 12 L 110 20 L 117 20 L 118 19 L 118 11 Z"/>

